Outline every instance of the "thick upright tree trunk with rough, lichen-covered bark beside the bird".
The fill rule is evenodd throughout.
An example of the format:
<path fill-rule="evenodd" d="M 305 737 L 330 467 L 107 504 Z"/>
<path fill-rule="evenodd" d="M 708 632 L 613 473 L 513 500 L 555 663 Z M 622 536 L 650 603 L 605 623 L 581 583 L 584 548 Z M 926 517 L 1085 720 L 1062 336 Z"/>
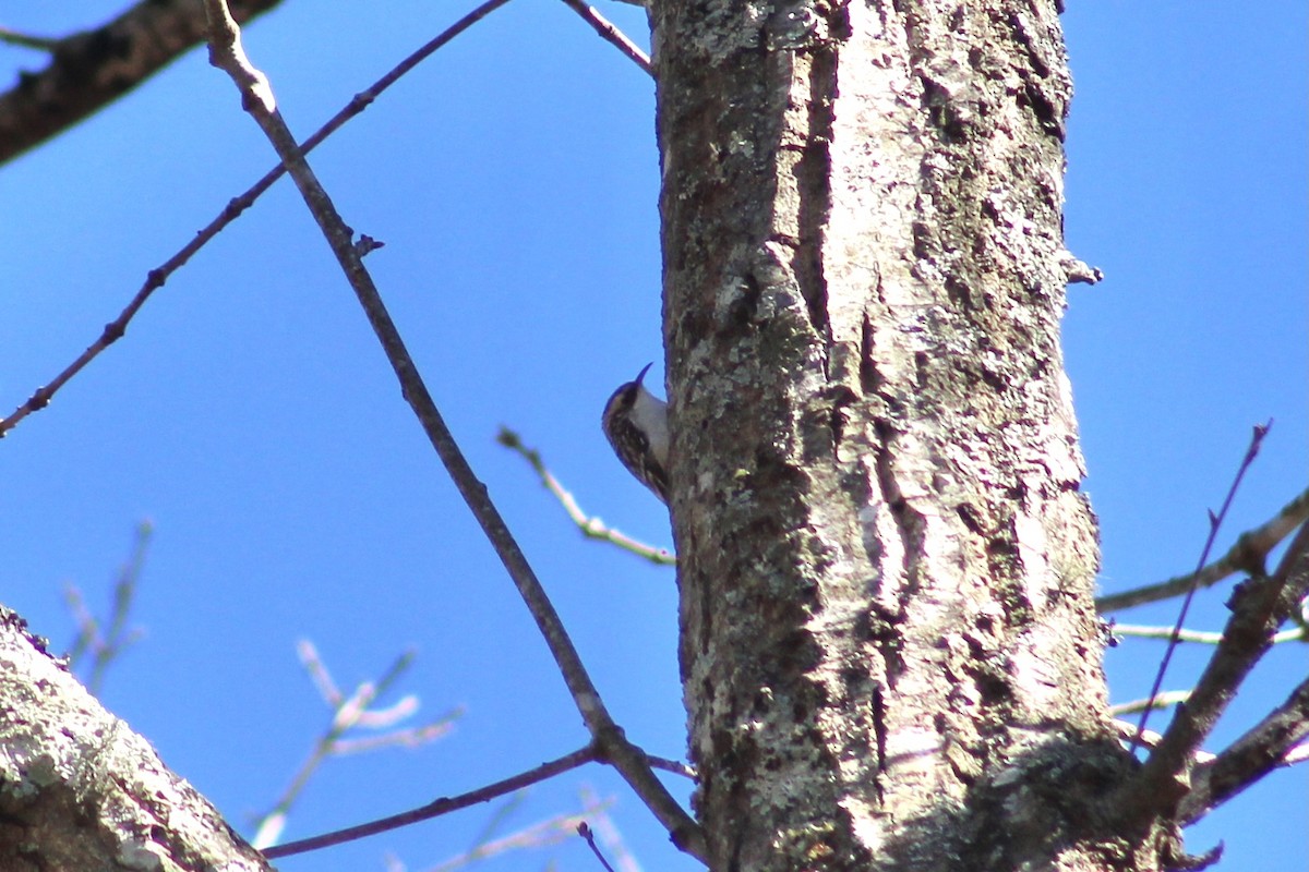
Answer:
<path fill-rule="evenodd" d="M 1115 831 L 1059 348 L 1054 3 L 652 9 L 712 868 L 1156 868 Z"/>

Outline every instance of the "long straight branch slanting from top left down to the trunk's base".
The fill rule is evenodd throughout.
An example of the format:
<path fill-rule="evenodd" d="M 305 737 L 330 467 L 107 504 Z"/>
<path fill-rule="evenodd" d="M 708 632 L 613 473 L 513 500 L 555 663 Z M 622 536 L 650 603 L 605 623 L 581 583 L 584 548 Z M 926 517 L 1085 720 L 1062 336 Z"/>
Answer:
<path fill-rule="evenodd" d="M 327 244 L 336 256 L 369 324 L 373 327 L 373 332 L 386 352 L 386 358 L 399 379 L 402 395 L 414 409 L 428 441 L 441 463 L 445 464 L 446 472 L 480 524 L 483 533 L 495 548 L 509 578 L 517 586 L 518 595 L 535 620 L 537 629 L 545 638 L 600 753 L 623 775 L 647 808 L 668 829 L 673 843 L 696 859 L 704 860 L 703 831 L 654 775 L 649 763 L 645 762 L 644 752 L 626 739 L 623 731 L 609 714 L 572 639 L 568 638 L 568 633 L 559 620 L 559 613 L 537 579 L 535 571 L 487 494 L 486 485 L 478 480 L 463 456 L 463 451 L 454 441 L 454 435 L 445 425 L 445 420 L 432 400 L 427 384 L 382 302 L 377 285 L 360 259 L 351 231 L 346 227 L 331 197 L 319 184 L 280 112 L 278 112 L 276 102 L 267 86 L 267 78 L 246 60 L 240 46 L 240 30 L 226 10 L 225 0 L 206 0 L 206 7 L 209 10 L 211 63 L 228 72 L 237 84 L 241 90 L 242 109 L 264 132 L 278 152 L 278 157 L 291 173 L 305 205 L 327 238 Z"/>

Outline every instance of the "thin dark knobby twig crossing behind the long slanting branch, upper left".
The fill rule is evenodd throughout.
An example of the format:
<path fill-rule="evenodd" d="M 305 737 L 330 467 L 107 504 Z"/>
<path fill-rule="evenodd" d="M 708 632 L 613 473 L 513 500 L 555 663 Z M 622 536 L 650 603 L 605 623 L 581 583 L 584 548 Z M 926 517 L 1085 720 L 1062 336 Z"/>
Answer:
<path fill-rule="evenodd" d="M 419 48 L 412 55 L 410 55 L 399 64 L 397 64 L 389 73 L 386 73 L 376 82 L 373 82 L 370 88 L 368 88 L 364 92 L 360 92 L 359 94 L 355 94 L 355 97 L 350 101 L 350 103 L 346 105 L 344 109 L 336 112 L 336 115 L 331 118 L 331 120 L 329 120 L 326 124 L 318 128 L 318 131 L 313 136 L 305 140 L 304 145 L 301 145 L 301 150 L 308 154 L 314 148 L 321 145 L 323 140 L 335 133 L 342 126 L 346 124 L 346 122 L 348 122 L 350 119 L 355 118 L 365 109 L 368 109 L 368 105 L 372 103 L 374 99 L 377 99 L 377 97 L 382 92 L 394 85 L 401 78 L 401 76 L 414 69 L 414 67 L 416 67 L 428 56 L 431 56 L 432 52 L 437 51 L 439 48 L 449 43 L 452 39 L 458 37 L 461 33 L 463 33 L 476 22 L 482 21 L 488 14 L 491 14 L 500 7 L 505 5 L 507 3 L 509 3 L 509 0 L 487 0 L 480 7 L 478 7 L 476 9 L 474 9 L 473 12 L 463 16 L 453 25 L 442 30 L 435 39 L 429 41 L 421 48 Z M 177 254 L 165 260 L 157 268 L 149 271 L 149 273 L 147 273 L 145 277 L 145 284 L 141 285 L 140 290 L 136 292 L 136 295 L 132 297 L 131 302 L 127 303 L 123 311 L 118 314 L 118 318 L 115 318 L 114 320 L 109 322 L 109 324 L 105 326 L 105 329 L 101 331 L 99 337 L 96 339 L 94 343 L 88 345 L 86 350 L 79 354 L 77 358 L 72 363 L 65 366 L 64 370 L 59 373 L 54 379 L 51 379 L 47 384 L 42 384 L 35 391 L 33 391 L 31 396 L 29 396 L 22 404 L 20 404 L 18 408 L 16 408 L 9 414 L 9 417 L 0 420 L 0 438 L 4 438 L 5 434 L 9 433 L 9 430 L 17 426 L 20 421 L 22 421 L 33 412 L 39 412 L 41 409 L 46 408 L 50 404 L 50 399 L 64 384 L 67 384 L 69 379 L 77 375 L 77 373 L 85 369 L 85 366 L 90 363 L 93 360 L 99 357 L 99 354 L 106 348 L 109 348 L 119 339 L 122 339 L 123 333 L 127 332 L 128 323 L 132 320 L 132 318 L 136 316 L 136 312 L 141 309 L 141 306 L 145 305 L 145 301 L 149 299 L 156 290 L 162 288 L 164 282 L 168 281 L 168 278 L 174 272 L 186 265 L 186 263 L 200 248 L 203 248 L 211 239 L 219 235 L 219 233 L 224 227 L 236 221 L 242 212 L 249 209 L 254 204 L 254 201 L 263 195 L 264 191 L 272 187 L 274 182 L 276 182 L 285 174 L 285 171 L 287 170 L 281 163 L 268 170 L 263 175 L 263 178 L 255 182 L 245 193 L 233 197 L 226 204 L 226 207 L 224 207 L 223 212 L 220 212 L 217 217 L 215 217 L 199 233 L 196 233 L 190 242 L 182 246 L 182 248 L 179 248 Z"/>

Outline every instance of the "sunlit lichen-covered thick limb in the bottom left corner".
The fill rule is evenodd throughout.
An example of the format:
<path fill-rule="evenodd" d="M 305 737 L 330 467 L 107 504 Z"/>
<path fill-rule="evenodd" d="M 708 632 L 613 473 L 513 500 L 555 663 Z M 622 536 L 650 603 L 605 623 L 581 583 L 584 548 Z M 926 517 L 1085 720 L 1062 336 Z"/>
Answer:
<path fill-rule="evenodd" d="M 268 869 L 0 607 L 0 869 Z"/>

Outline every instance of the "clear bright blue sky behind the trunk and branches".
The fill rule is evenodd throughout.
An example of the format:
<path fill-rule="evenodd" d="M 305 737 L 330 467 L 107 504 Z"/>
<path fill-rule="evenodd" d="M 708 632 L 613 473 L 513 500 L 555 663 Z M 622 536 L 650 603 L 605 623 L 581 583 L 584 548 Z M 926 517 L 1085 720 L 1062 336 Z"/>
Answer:
<path fill-rule="evenodd" d="M 7 25 L 59 34 L 111 4 L 39 4 Z M 471 4 L 287 0 L 246 34 L 305 136 Z M 1066 353 L 1101 586 L 1186 571 L 1245 450 L 1276 418 L 1225 548 L 1305 486 L 1305 9 L 1069 3 L 1077 94 L 1066 227 L 1106 280 L 1073 286 Z M 622 4 L 605 14 L 643 37 Z M 1270 24 L 1275 22 L 1275 24 Z M 34 52 L 0 50 L 7 69 Z M 509 425 L 583 506 L 670 541 L 662 507 L 597 426 L 619 382 L 661 361 L 653 88 L 562 4 L 514 0 L 419 67 L 314 153 L 346 221 L 385 241 L 368 264 L 454 434 L 533 561 L 628 733 L 685 752 L 673 574 L 583 541 L 516 456 Z M 148 269 L 274 162 L 232 84 L 192 52 L 0 169 L 0 407 L 98 336 Z M 656 366 L 656 370 L 658 367 Z M 335 760 L 288 838 L 393 813 L 585 743 L 511 583 L 399 396 L 298 196 L 279 183 L 156 294 L 127 336 L 0 442 L 4 601 L 63 646 L 65 582 L 94 604 L 134 526 L 154 543 L 106 705 L 243 826 L 285 787 L 327 714 L 295 655 L 313 639 L 346 685 L 406 647 L 424 714 L 467 713 L 415 752 Z M 1190 626 L 1217 629 L 1227 588 Z M 1169 622 L 1174 605 L 1121 616 Z M 1115 699 L 1143 696 L 1162 647 L 1107 655 Z M 1183 648 L 1168 686 L 1207 651 Z M 1278 651 L 1213 746 L 1306 672 Z M 398 694 L 393 694 L 393 698 Z M 1162 719 L 1155 722 L 1162 724 Z M 504 830 L 577 805 L 589 783 L 647 869 L 692 869 L 622 783 L 588 767 L 535 788 Z M 685 795 L 686 788 L 670 782 Z M 1305 770 L 1282 771 L 1192 829 L 1228 868 L 1304 868 Z M 474 809 L 280 868 L 411 869 L 465 850 Z M 250 834 L 250 830 L 246 830 Z M 590 868 L 571 843 L 490 869 Z"/>

